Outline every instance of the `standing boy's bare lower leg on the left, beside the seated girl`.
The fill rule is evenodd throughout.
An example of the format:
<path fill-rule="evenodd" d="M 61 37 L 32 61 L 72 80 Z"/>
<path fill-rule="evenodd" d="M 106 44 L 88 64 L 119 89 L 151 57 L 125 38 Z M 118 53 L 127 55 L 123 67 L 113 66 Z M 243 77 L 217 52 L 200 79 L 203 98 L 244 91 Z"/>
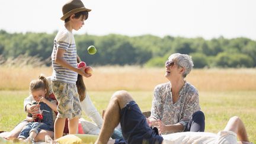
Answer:
<path fill-rule="evenodd" d="M 59 118 L 57 117 L 56 120 L 55 120 L 55 130 L 54 130 L 54 133 L 55 133 L 55 139 L 58 139 L 59 137 L 62 137 L 63 135 L 63 130 L 64 130 L 64 127 L 65 127 L 65 121 L 66 121 L 66 118 Z"/>

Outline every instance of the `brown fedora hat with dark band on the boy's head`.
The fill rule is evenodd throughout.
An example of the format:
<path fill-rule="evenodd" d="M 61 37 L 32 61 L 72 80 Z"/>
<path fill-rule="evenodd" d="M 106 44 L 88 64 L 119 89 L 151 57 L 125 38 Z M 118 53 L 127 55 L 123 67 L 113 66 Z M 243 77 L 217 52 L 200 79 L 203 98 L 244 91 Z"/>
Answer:
<path fill-rule="evenodd" d="M 60 18 L 60 20 L 65 20 L 72 14 L 76 14 L 77 12 L 81 11 L 91 11 L 91 9 L 85 8 L 84 4 L 81 0 L 71 0 L 68 1 L 65 5 L 62 7 L 62 13 L 63 16 Z"/>

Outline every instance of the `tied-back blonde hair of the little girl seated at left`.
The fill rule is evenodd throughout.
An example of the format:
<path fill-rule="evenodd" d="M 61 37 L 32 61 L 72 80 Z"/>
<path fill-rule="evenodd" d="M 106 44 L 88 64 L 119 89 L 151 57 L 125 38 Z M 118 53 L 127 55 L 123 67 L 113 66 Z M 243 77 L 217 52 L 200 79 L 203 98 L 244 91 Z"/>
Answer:
<path fill-rule="evenodd" d="M 46 95 L 45 97 L 48 97 L 49 95 L 49 84 L 45 76 L 42 74 L 39 76 L 39 79 L 34 79 L 30 82 L 30 92 L 36 91 L 39 89 L 46 89 Z"/>

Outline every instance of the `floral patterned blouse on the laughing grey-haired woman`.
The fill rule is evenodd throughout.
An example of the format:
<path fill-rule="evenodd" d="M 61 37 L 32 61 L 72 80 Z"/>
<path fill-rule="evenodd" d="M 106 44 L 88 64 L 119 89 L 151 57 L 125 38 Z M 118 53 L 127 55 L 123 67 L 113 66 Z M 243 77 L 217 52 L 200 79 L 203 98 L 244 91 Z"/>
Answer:
<path fill-rule="evenodd" d="M 154 89 L 151 117 L 160 119 L 166 125 L 181 123 L 185 128 L 192 114 L 199 110 L 199 94 L 188 82 L 181 88 L 176 103 L 172 103 L 171 82 L 159 84 Z"/>

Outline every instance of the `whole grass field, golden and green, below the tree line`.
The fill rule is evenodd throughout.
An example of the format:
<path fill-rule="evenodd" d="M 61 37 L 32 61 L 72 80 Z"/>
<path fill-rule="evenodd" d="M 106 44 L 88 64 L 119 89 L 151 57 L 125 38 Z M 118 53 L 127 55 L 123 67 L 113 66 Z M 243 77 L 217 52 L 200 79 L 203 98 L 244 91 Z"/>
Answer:
<path fill-rule="evenodd" d="M 0 73 L 0 130 L 11 130 L 26 116 L 23 100 L 28 95 L 28 83 L 40 73 L 52 72 L 50 68 L 0 67 Z M 163 75 L 164 70 L 159 68 L 101 67 L 94 68 L 94 75 L 85 83 L 98 111 L 106 108 L 117 89 L 128 90 L 142 111 L 148 111 L 153 88 L 167 82 Z M 218 132 L 229 117 L 239 116 L 249 139 L 256 142 L 256 69 L 194 69 L 187 81 L 199 89 L 207 132 Z"/>

